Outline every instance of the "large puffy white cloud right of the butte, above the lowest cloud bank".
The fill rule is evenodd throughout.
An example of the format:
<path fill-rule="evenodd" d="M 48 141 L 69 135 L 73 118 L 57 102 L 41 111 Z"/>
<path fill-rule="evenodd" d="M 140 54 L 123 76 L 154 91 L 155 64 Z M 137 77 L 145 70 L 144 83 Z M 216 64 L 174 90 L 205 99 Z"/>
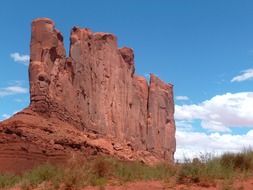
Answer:
<path fill-rule="evenodd" d="M 211 131 L 229 132 L 231 127 L 253 127 L 253 92 L 217 95 L 200 104 L 175 105 L 175 119 L 200 120 Z"/>

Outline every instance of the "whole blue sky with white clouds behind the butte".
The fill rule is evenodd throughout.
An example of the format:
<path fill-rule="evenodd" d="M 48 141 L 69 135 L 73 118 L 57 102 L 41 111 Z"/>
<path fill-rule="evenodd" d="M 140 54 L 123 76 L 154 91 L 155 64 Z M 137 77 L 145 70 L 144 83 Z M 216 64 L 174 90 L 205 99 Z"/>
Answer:
<path fill-rule="evenodd" d="M 176 158 L 253 145 L 253 1 L 0 2 L 0 120 L 29 104 L 30 23 L 49 17 L 68 49 L 73 26 L 114 33 L 137 73 L 174 84 Z"/>

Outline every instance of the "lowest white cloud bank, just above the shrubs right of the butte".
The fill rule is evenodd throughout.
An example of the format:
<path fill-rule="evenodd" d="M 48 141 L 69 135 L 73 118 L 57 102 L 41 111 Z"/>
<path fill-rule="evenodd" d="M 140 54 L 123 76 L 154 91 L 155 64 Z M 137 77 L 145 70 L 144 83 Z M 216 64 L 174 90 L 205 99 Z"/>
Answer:
<path fill-rule="evenodd" d="M 189 132 L 177 130 L 177 150 L 175 159 L 199 157 L 201 154 L 220 155 L 225 152 L 240 152 L 244 148 L 253 147 L 253 130 L 244 135 Z"/>

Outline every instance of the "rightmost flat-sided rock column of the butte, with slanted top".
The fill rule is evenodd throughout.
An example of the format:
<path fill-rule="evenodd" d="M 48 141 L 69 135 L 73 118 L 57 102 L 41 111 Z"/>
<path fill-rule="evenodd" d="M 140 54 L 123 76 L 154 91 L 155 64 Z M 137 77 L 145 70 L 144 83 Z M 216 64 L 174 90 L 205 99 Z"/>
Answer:
<path fill-rule="evenodd" d="M 176 149 L 173 86 L 150 76 L 147 150 L 173 161 Z"/>

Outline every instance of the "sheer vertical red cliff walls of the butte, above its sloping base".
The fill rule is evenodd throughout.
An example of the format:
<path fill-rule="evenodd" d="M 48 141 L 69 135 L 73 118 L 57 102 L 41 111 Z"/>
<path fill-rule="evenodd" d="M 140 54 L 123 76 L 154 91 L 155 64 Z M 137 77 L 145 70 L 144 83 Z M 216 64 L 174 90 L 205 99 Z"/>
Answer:
<path fill-rule="evenodd" d="M 30 112 L 173 161 L 173 86 L 136 76 L 133 50 L 114 35 L 74 27 L 67 57 L 54 22 L 40 18 L 30 50 Z"/>

